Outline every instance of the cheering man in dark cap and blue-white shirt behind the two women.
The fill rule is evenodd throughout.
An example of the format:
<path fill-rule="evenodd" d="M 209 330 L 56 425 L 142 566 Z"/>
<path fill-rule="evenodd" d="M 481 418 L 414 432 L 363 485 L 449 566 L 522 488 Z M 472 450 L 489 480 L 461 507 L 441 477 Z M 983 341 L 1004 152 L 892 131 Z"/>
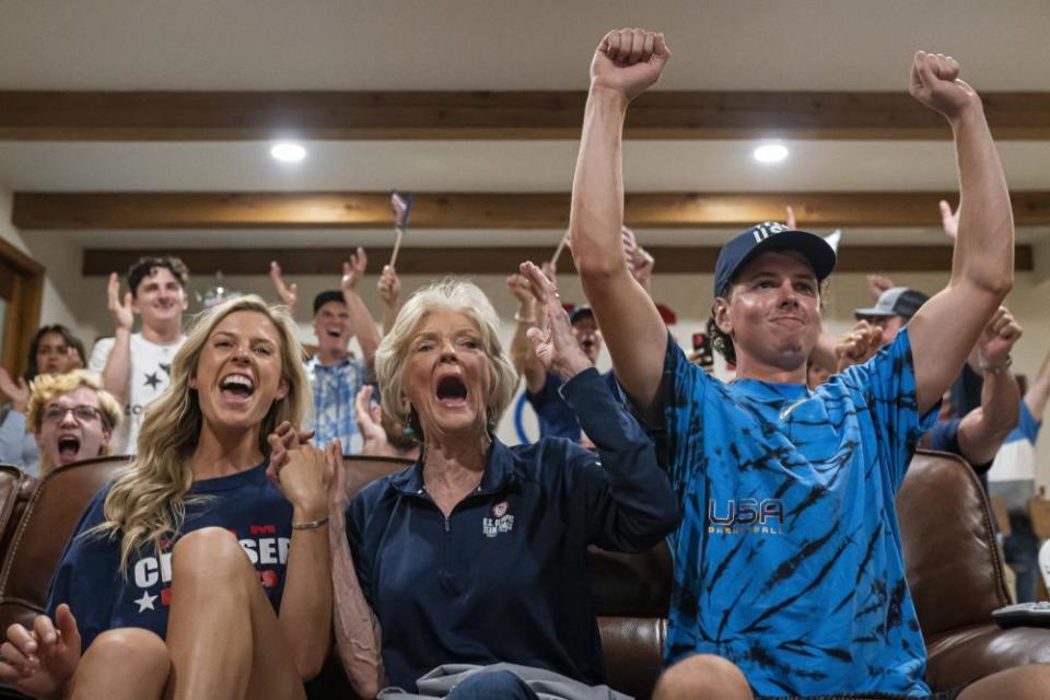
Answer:
<path fill-rule="evenodd" d="M 355 398 L 375 357 L 380 334 L 375 320 L 358 294 L 357 285 L 368 268 L 369 258 L 359 247 L 342 264 L 339 289 L 326 290 L 314 298 L 314 332 L 317 353 L 306 362 L 306 374 L 314 388 L 314 412 L 305 428 L 312 429 L 318 445 L 339 439 L 343 454 L 361 454 L 362 436 L 354 410 Z M 290 310 L 299 300 L 295 284 L 285 284 L 281 268 L 270 264 L 270 279 L 281 302 Z M 350 351 L 357 336 L 363 358 Z"/>

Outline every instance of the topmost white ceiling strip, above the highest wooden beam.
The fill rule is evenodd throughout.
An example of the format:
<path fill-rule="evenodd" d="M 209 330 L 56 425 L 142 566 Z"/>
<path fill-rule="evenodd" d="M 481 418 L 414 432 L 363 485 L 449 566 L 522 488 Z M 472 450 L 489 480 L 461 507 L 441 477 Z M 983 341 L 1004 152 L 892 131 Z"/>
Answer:
<path fill-rule="evenodd" d="M 5 0 L 20 90 L 578 90 L 610 28 L 665 32 L 673 90 L 900 90 L 917 49 L 1045 90 L 1045 0 Z"/>

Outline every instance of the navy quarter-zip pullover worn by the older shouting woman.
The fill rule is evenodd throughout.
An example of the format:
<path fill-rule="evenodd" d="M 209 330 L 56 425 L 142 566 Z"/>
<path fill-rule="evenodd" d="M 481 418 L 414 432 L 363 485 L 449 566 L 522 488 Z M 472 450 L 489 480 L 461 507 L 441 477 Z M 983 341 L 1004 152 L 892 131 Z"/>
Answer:
<path fill-rule="evenodd" d="M 390 682 L 439 664 L 509 662 L 605 681 L 587 545 L 640 551 L 678 522 L 652 443 L 594 369 L 562 395 L 597 447 L 494 440 L 478 489 L 446 518 L 420 460 L 347 508 L 347 537 L 382 626 Z"/>

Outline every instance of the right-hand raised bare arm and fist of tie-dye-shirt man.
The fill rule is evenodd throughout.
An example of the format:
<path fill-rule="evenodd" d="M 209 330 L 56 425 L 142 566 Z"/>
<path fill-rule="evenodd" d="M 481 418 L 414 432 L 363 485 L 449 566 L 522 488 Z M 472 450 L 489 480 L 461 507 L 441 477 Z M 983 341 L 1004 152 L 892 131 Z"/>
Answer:
<path fill-rule="evenodd" d="M 959 65 L 915 54 L 911 94 L 952 125 L 959 165 L 959 232 L 948 285 L 909 324 L 920 412 L 932 408 L 962 368 L 1014 280 L 1014 218 L 1003 166 L 981 100 L 958 79 Z"/>

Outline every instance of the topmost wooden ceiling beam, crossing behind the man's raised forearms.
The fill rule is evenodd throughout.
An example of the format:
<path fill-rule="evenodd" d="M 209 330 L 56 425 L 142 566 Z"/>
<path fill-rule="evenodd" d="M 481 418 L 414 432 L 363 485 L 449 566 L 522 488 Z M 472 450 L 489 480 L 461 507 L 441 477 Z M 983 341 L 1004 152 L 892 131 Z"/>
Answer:
<path fill-rule="evenodd" d="M 1050 92 L 982 93 L 996 139 L 1050 140 Z M 586 93 L 0 91 L 0 140 L 578 139 Z M 903 92 L 655 91 L 628 139 L 948 139 Z"/>

